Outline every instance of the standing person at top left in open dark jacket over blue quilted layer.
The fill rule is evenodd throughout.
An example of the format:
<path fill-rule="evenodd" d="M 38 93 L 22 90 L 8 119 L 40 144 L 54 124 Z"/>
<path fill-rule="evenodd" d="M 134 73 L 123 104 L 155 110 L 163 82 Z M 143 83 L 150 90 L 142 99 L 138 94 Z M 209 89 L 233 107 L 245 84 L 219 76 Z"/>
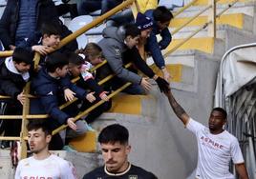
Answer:
<path fill-rule="evenodd" d="M 44 22 L 58 22 L 52 0 L 8 0 L 0 20 L 0 40 L 6 50 L 14 50 Z"/>

